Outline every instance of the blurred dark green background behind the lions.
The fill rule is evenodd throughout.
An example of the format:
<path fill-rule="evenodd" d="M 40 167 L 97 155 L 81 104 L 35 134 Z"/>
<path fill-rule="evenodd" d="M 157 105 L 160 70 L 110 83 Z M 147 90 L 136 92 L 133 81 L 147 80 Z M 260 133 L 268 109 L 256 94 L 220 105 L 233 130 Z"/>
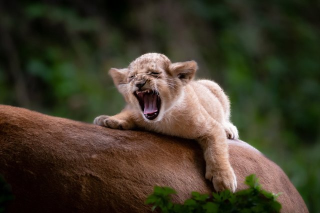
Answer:
<path fill-rule="evenodd" d="M 124 106 L 107 71 L 194 59 L 240 138 L 320 212 L 319 0 L 0 1 L 0 103 L 92 122 Z"/>

